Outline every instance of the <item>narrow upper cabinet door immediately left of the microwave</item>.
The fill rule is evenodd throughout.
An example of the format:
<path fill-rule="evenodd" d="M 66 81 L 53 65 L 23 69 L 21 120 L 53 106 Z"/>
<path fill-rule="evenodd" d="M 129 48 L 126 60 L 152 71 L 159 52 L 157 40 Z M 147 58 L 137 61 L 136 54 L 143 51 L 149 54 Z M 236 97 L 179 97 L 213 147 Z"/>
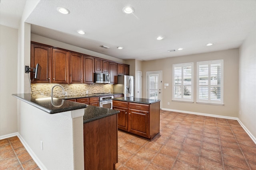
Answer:
<path fill-rule="evenodd" d="M 84 55 L 84 83 L 93 83 L 94 57 Z"/>

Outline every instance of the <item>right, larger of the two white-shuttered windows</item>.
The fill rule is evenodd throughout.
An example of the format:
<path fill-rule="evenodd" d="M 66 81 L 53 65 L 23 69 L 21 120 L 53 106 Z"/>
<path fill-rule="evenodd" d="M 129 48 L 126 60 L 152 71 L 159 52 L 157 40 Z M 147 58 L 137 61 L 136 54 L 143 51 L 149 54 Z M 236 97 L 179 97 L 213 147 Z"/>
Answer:
<path fill-rule="evenodd" d="M 197 102 L 223 104 L 223 60 L 197 62 Z"/>

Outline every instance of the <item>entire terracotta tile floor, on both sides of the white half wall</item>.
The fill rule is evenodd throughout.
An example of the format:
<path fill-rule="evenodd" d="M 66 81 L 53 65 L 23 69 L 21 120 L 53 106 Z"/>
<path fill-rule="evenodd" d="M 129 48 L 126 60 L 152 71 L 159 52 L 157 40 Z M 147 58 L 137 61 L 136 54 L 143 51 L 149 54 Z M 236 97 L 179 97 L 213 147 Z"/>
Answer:
<path fill-rule="evenodd" d="M 39 170 L 18 137 L 0 140 L 0 170 Z M 147 141 L 118 131 L 116 170 L 256 170 L 256 144 L 238 121 L 160 111 Z"/>

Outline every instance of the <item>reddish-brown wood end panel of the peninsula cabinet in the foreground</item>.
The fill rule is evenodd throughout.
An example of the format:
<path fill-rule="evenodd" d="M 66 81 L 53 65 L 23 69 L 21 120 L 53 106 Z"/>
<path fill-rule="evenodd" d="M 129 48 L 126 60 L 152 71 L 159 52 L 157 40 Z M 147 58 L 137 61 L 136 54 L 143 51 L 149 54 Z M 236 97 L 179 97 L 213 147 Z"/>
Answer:
<path fill-rule="evenodd" d="M 117 162 L 117 114 L 84 123 L 84 169 L 115 170 Z"/>

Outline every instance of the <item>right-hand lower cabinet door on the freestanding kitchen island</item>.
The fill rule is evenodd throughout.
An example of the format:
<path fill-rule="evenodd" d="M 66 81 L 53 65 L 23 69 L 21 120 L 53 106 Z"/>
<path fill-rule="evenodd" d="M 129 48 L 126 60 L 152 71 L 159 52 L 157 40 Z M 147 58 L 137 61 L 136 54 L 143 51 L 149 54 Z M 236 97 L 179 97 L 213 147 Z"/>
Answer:
<path fill-rule="evenodd" d="M 129 109 L 128 130 L 137 135 L 149 137 L 149 112 Z"/>

